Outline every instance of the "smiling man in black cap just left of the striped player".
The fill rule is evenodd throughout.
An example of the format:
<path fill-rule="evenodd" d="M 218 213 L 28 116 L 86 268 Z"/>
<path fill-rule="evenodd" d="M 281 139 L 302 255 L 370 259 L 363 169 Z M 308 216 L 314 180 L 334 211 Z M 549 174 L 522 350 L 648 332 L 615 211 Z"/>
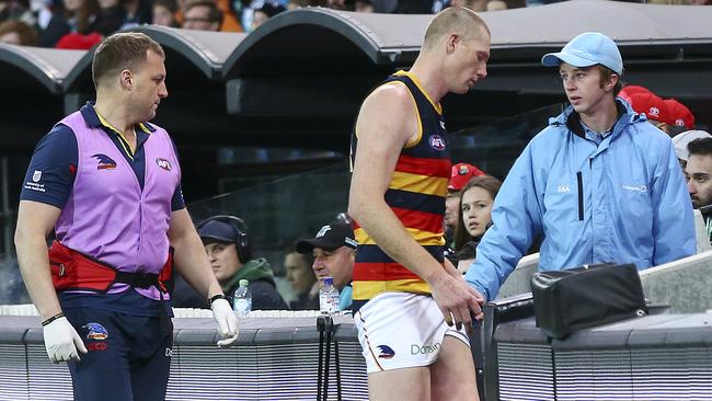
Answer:
<path fill-rule="evenodd" d="M 338 289 L 341 310 L 351 309 L 352 279 L 357 242 L 354 229 L 345 222 L 332 222 L 322 227 L 317 236 L 297 242 L 297 252 L 314 255 L 314 273 L 321 282 L 333 277 Z"/>

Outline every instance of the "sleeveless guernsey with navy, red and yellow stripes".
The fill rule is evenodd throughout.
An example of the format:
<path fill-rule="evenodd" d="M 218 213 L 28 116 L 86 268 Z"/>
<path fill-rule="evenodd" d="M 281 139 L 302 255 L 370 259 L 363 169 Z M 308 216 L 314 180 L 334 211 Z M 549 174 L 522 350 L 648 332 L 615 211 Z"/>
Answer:
<path fill-rule="evenodd" d="M 401 150 L 384 195 L 386 203 L 415 241 L 443 263 L 443 217 L 451 167 L 443 110 L 430 100 L 417 78 L 409 72 L 399 71 L 382 84 L 405 84 L 420 116 L 417 138 Z M 354 133 L 352 164 L 356 142 Z M 354 231 L 358 241 L 354 264 L 354 311 L 381 293 L 430 294 L 427 283 L 388 256 L 357 221 L 354 221 Z"/>

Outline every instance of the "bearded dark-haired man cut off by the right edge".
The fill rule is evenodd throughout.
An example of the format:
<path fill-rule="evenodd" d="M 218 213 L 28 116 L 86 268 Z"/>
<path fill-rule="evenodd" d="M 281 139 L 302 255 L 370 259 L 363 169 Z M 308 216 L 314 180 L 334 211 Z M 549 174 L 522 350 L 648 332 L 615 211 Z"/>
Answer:
<path fill-rule="evenodd" d="M 687 149 L 690 154 L 685 168 L 687 188 L 692 206 L 702 213 L 712 242 L 712 138 L 694 139 Z"/>

